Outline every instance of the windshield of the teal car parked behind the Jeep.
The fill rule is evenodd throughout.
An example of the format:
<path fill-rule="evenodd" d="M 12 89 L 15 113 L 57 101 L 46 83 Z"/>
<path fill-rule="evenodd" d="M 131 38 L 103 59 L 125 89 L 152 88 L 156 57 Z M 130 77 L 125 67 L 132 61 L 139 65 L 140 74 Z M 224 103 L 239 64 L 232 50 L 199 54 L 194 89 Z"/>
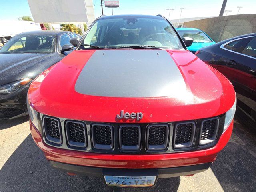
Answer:
<path fill-rule="evenodd" d="M 208 36 L 200 30 L 177 30 L 181 37 L 190 37 L 194 42 L 212 42 Z"/>

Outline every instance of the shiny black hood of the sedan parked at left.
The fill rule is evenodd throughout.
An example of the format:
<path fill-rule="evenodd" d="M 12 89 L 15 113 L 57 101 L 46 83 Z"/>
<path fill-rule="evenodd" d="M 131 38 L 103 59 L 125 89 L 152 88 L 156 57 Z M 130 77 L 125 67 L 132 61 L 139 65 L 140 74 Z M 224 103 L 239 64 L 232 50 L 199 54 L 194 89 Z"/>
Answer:
<path fill-rule="evenodd" d="M 39 62 L 46 58 L 50 58 L 50 54 L 0 54 L 0 85 L 21 78 L 34 78 L 33 74 L 26 76 L 24 73 L 29 71 L 28 68 L 36 67 Z"/>

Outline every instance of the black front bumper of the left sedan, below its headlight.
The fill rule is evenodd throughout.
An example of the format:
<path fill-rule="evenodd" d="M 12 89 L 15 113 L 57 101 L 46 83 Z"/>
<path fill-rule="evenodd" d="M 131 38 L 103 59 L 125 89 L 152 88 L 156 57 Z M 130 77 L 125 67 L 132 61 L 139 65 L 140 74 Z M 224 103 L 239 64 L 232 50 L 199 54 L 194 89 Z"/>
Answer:
<path fill-rule="evenodd" d="M 28 114 L 26 96 L 28 86 L 12 93 L 0 95 L 0 119 L 14 119 Z"/>

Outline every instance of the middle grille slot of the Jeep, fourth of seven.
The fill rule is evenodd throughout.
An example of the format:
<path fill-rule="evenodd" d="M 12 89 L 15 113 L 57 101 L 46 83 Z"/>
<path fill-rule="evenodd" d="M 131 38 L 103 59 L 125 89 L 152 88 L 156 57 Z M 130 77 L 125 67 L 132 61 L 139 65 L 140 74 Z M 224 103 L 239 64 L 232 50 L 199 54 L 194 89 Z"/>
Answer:
<path fill-rule="evenodd" d="M 122 150 L 138 150 L 140 148 L 140 126 L 120 126 L 119 141 Z"/>

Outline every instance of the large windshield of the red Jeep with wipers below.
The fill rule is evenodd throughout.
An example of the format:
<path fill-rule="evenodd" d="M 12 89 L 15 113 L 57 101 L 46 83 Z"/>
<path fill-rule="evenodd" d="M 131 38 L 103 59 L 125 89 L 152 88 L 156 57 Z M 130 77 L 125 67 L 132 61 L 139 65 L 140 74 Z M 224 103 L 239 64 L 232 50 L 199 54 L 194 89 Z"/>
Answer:
<path fill-rule="evenodd" d="M 102 18 L 97 20 L 82 44 L 102 48 L 154 46 L 163 49 L 183 49 L 172 26 L 156 18 Z M 89 46 L 80 46 L 89 48 Z M 92 47 L 91 47 L 92 48 Z"/>

